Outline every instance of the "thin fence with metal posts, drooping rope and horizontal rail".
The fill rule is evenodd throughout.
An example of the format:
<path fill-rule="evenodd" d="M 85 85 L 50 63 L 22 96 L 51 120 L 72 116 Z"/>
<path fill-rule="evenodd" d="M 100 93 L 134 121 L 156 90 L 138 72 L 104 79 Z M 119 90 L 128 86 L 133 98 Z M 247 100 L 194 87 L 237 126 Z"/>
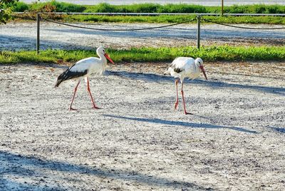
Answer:
<path fill-rule="evenodd" d="M 89 29 L 89 30 L 95 30 L 95 31 L 143 31 L 143 30 L 152 30 L 152 29 L 162 29 L 170 26 L 177 26 L 180 24 L 187 24 L 192 21 L 197 20 L 197 48 L 200 46 L 200 31 L 201 31 L 201 21 L 206 21 L 209 23 L 213 24 L 218 24 L 222 26 L 228 26 L 232 28 L 238 28 L 238 29 L 249 29 L 249 30 L 279 30 L 279 29 L 285 29 L 284 26 L 281 27 L 263 27 L 263 28 L 255 28 L 255 27 L 248 27 L 248 26 L 237 26 L 237 25 L 232 25 L 232 24 L 224 24 L 221 22 L 213 21 L 210 19 L 205 19 L 203 16 L 218 16 L 220 14 L 195 14 L 195 18 L 190 19 L 188 21 L 182 21 L 178 22 L 175 24 L 167 24 L 167 25 L 162 25 L 162 26 L 153 26 L 153 27 L 144 27 L 144 28 L 135 28 L 135 29 L 102 29 L 102 28 L 94 28 L 94 27 L 89 27 L 86 26 L 87 24 L 85 23 L 67 23 L 67 22 L 61 22 L 61 21 L 55 21 L 52 19 L 46 19 L 41 17 L 41 14 L 45 13 L 40 13 L 37 14 L 36 20 L 37 20 L 37 43 L 36 43 L 36 51 L 37 53 L 39 52 L 39 47 L 40 47 L 40 21 L 48 21 L 54 24 L 61 24 L 63 26 L 70 26 L 73 28 L 79 28 L 79 29 Z M 53 13 L 53 14 L 82 14 L 82 13 Z M 165 14 L 122 14 L 122 13 L 85 13 L 88 15 L 130 15 L 130 16 L 137 16 L 137 15 L 142 15 L 142 16 L 147 16 L 147 15 L 152 15 L 152 16 L 157 16 L 157 15 L 165 15 Z M 167 14 L 167 15 L 186 15 L 186 14 Z M 187 15 L 193 15 L 193 14 L 187 14 Z M 224 14 L 224 16 L 285 16 L 285 14 Z M 85 26 L 78 26 L 78 25 L 85 25 Z M 94 26 L 94 25 L 93 25 Z"/>

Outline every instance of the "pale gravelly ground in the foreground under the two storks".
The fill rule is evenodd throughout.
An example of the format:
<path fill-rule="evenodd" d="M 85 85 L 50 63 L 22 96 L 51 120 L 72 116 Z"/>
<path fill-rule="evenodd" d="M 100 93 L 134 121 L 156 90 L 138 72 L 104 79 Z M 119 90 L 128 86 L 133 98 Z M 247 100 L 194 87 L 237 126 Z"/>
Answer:
<path fill-rule="evenodd" d="M 0 65 L 0 190 L 284 190 L 285 63 L 205 63 L 173 110 L 167 63 Z"/>

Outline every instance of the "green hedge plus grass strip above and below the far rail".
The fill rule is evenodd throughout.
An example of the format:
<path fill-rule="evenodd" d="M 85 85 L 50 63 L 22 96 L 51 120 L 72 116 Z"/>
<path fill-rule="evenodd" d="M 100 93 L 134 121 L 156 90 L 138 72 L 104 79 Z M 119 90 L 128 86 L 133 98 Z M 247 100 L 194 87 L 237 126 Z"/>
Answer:
<path fill-rule="evenodd" d="M 78 12 L 78 13 L 209 13 L 219 14 L 220 6 L 199 6 L 191 4 L 132 4 L 132 5 L 110 5 L 97 4 L 93 6 L 83 6 L 69 4 L 58 1 L 36 2 L 25 4 L 17 2 L 12 10 L 23 12 L 25 15 L 17 15 L 18 19 L 34 19 L 37 12 L 48 12 L 46 18 L 58 19 L 61 21 L 73 22 L 145 22 L 145 23 L 177 23 L 190 21 L 195 16 L 84 16 L 84 15 L 61 15 L 55 16 L 53 12 Z M 285 6 L 281 5 L 247 5 L 247 6 L 225 6 L 225 14 L 285 14 Z M 227 24 L 285 24 L 284 17 L 281 16 L 204 16 L 205 19 L 218 21 Z M 196 21 L 192 21 L 194 23 Z"/>

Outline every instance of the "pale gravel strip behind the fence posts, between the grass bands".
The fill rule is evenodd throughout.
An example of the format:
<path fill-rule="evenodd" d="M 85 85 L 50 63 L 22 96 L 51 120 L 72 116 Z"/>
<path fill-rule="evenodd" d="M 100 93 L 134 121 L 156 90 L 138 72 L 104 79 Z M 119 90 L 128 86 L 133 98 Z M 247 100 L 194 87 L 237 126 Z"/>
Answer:
<path fill-rule="evenodd" d="M 113 26 L 112 26 L 113 25 Z M 101 29 L 134 29 L 157 24 L 100 24 Z M 115 25 L 115 26 L 114 26 Z M 244 26 L 244 25 L 242 25 Z M 255 25 L 255 27 L 277 27 Z M 201 44 L 231 45 L 285 45 L 285 29 L 259 30 L 234 29 L 225 26 L 202 25 Z M 41 22 L 41 48 L 85 48 L 90 49 L 103 44 L 112 48 L 140 46 L 195 46 L 196 25 L 182 24 L 165 29 L 145 31 L 93 31 L 77 29 Z M 0 25 L 0 50 L 35 49 L 36 24 L 10 23 Z"/>

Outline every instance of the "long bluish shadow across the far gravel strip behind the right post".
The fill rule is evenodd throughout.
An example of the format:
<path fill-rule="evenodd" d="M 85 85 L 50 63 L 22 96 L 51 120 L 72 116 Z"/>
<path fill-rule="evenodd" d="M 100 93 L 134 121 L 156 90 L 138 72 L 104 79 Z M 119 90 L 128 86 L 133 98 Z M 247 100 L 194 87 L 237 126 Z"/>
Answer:
<path fill-rule="evenodd" d="M 121 26 L 121 25 L 120 25 Z M 107 26 L 110 27 L 110 26 Z M 95 27 L 97 28 L 97 27 Z M 128 29 L 142 29 L 141 26 L 125 26 Z M 122 28 L 120 28 L 122 29 Z M 89 29 L 45 29 L 45 31 L 55 31 L 58 33 L 79 33 L 86 35 L 100 35 L 111 38 L 193 38 L 196 35 L 196 29 L 183 28 L 183 27 L 165 27 L 162 29 L 151 29 L 151 30 L 140 30 L 140 31 L 94 31 Z M 284 39 L 284 33 L 279 31 L 247 31 L 244 33 L 242 30 L 231 31 L 231 30 L 217 30 L 217 29 L 203 29 L 201 31 L 202 36 L 207 41 L 219 39 L 219 41 L 227 38 L 227 41 L 233 41 L 233 38 L 247 38 L 247 41 L 251 41 L 252 37 L 259 40 L 268 40 L 269 44 Z M 274 38 L 272 38 L 274 34 Z M 204 40 L 202 38 L 202 40 Z"/>

